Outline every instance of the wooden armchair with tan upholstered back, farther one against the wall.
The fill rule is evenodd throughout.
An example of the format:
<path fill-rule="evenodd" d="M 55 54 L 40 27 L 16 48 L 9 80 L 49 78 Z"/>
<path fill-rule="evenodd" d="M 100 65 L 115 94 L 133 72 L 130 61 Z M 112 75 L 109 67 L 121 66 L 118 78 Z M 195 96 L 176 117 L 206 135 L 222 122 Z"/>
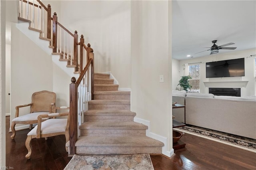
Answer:
<path fill-rule="evenodd" d="M 45 115 L 48 113 L 56 112 L 55 107 L 56 101 L 56 93 L 50 91 L 39 91 L 32 94 L 32 103 L 26 105 L 16 106 L 16 114 L 15 118 L 12 120 L 11 130 L 12 136 L 14 139 L 16 135 L 15 125 L 16 124 L 26 124 L 30 125 L 30 129 L 32 129 L 32 125 L 38 123 L 38 115 Z M 26 115 L 19 116 L 19 109 L 22 107 L 30 106 L 30 113 Z M 53 109 L 53 110 L 52 110 Z M 44 120 L 48 119 L 46 117 Z"/>

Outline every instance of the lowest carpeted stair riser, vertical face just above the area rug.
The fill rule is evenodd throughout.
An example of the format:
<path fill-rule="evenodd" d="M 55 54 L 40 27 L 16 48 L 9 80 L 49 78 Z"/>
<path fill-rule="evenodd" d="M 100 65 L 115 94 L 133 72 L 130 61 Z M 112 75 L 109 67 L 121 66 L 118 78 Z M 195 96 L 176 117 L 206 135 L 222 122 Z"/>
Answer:
<path fill-rule="evenodd" d="M 96 154 L 161 154 L 162 147 L 76 147 L 76 154 L 96 155 Z"/>

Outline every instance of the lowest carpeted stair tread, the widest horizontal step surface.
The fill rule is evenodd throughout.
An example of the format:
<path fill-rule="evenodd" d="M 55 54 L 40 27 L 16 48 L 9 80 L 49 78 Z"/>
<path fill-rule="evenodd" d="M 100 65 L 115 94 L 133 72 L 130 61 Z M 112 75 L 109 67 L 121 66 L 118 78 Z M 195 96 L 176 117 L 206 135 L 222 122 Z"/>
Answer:
<path fill-rule="evenodd" d="M 164 143 L 147 136 L 80 136 L 76 147 L 162 147 Z"/>

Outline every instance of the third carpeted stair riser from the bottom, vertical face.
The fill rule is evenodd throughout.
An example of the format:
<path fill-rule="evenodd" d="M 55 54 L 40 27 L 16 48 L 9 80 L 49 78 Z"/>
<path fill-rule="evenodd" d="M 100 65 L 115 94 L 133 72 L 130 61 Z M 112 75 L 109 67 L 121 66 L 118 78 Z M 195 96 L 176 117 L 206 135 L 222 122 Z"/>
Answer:
<path fill-rule="evenodd" d="M 133 122 L 134 116 L 84 116 L 86 122 Z"/>

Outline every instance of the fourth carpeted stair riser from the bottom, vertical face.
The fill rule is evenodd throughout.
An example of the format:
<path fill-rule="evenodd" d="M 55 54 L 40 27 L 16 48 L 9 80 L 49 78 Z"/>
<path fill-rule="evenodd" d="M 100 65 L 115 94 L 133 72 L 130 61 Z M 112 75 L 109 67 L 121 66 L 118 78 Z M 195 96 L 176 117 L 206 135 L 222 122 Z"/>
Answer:
<path fill-rule="evenodd" d="M 100 109 L 106 109 L 106 110 L 130 110 L 130 104 L 124 104 L 124 105 L 110 105 L 110 104 L 95 104 L 95 105 L 88 105 L 89 109 L 92 110 L 100 110 Z"/>

